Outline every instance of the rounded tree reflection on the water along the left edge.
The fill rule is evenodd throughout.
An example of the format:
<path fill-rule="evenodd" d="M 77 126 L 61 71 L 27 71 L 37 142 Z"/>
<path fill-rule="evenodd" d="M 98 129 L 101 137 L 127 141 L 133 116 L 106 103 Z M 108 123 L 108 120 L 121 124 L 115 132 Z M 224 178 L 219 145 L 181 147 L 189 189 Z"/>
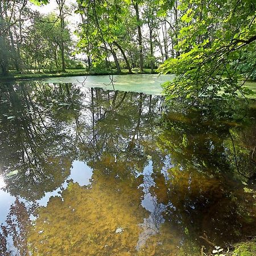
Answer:
<path fill-rule="evenodd" d="M 71 97 L 68 87 L 65 88 Z M 1 85 L 0 89 L 0 144 L 4 153 L 1 163 L 7 189 L 30 200 L 40 199 L 69 175 L 72 137 L 63 131 L 69 118 L 59 121 L 56 112 L 49 111 L 56 97 L 55 86 L 19 84 Z M 54 96 L 49 100 L 51 92 Z M 62 90 L 60 94 L 65 100 Z M 67 105 L 59 106 L 60 116 L 61 109 L 66 110 Z"/>

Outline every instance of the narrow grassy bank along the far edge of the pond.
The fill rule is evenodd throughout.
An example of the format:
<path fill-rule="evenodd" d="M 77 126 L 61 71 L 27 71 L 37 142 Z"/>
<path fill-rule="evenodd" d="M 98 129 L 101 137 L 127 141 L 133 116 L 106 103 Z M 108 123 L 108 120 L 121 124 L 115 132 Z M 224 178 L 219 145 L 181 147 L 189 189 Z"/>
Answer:
<path fill-rule="evenodd" d="M 121 73 L 118 73 L 117 70 L 113 70 L 114 75 L 127 75 L 129 73 L 128 69 L 122 69 Z M 141 74 L 139 69 L 133 69 L 134 74 Z M 144 69 L 143 74 L 150 74 L 150 69 Z M 156 72 L 155 72 L 156 73 Z M 10 71 L 7 76 L 0 75 L 0 82 L 2 81 L 14 81 L 22 79 L 42 79 L 47 77 L 67 77 L 67 76 L 95 76 L 95 75 L 110 75 L 112 72 L 109 70 L 104 71 L 86 71 L 85 69 L 67 69 L 66 72 L 53 71 L 53 72 L 16 72 Z"/>

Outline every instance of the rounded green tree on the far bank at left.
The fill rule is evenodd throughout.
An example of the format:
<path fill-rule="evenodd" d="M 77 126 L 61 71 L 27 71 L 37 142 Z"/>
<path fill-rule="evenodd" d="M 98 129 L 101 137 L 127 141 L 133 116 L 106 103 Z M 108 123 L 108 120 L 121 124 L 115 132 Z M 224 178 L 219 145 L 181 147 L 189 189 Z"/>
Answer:
<path fill-rule="evenodd" d="M 27 67 L 38 71 L 48 68 L 51 71 L 58 69 L 61 63 L 63 70 L 68 63 L 69 49 L 72 45 L 70 31 L 61 27 L 61 21 L 55 13 L 35 13 L 32 21 L 22 48 L 22 56 Z"/>

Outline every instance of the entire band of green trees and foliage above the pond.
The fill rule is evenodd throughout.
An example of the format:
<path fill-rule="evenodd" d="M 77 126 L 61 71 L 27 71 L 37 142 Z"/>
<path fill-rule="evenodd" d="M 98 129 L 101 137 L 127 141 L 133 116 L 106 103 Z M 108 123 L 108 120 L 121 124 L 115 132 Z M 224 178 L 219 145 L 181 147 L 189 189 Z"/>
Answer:
<path fill-rule="evenodd" d="M 73 10 L 56 0 L 58 10 L 49 15 L 32 11 L 27 1 L 0 3 L 3 73 L 76 66 L 70 57 L 76 43 L 67 26 L 75 11 L 75 52 L 86 56 L 88 69 L 154 72 L 160 65 L 159 72 L 177 75 L 164 85 L 167 99 L 251 93 L 240 79 L 256 77 L 254 0 L 77 0 Z"/>

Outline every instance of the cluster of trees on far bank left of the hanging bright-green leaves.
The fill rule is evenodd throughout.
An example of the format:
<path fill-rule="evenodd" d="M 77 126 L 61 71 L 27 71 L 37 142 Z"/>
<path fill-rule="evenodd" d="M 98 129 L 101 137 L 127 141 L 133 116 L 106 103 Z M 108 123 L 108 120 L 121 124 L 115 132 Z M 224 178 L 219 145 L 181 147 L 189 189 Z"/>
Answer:
<path fill-rule="evenodd" d="M 3 75 L 9 70 L 40 72 L 47 69 L 51 72 L 75 67 L 78 61 L 71 58 L 75 42 L 67 22 L 71 9 L 64 2 L 57 0 L 57 10 L 43 15 L 33 10 L 26 0 L 0 1 L 0 69 Z"/>

